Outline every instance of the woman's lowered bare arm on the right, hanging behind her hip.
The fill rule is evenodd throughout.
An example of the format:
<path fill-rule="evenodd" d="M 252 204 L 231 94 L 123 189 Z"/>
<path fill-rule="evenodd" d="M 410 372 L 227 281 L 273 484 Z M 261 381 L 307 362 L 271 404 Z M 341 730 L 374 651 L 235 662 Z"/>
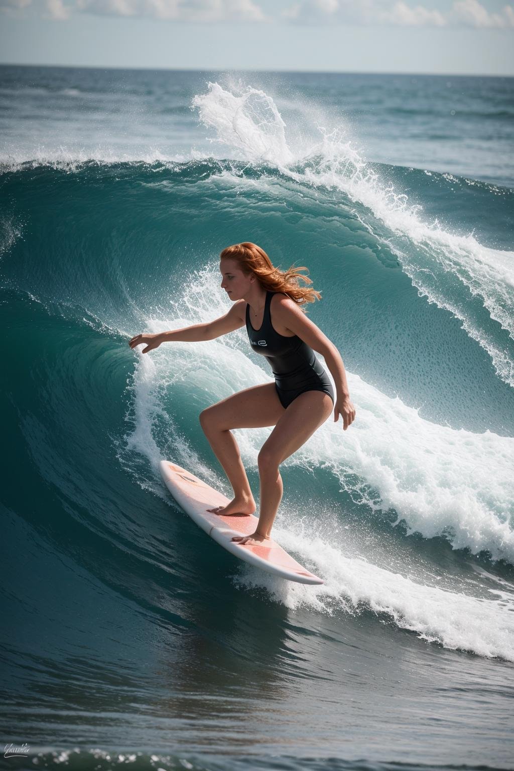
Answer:
<path fill-rule="evenodd" d="M 288 297 L 281 297 L 275 308 L 277 310 L 275 311 L 274 309 L 274 314 L 281 325 L 293 332 L 294 335 L 298 335 L 314 351 L 324 356 L 328 369 L 330 369 L 331 375 L 334 378 L 336 388 L 334 421 L 337 422 L 341 415 L 343 429 L 346 431 L 355 419 L 355 408 L 350 401 L 350 390 L 348 389 L 346 371 L 341 354 L 334 343 L 328 339 L 327 335 L 324 335 L 321 329 L 314 322 L 311 322 L 310 318 L 307 318 L 294 300 Z"/>

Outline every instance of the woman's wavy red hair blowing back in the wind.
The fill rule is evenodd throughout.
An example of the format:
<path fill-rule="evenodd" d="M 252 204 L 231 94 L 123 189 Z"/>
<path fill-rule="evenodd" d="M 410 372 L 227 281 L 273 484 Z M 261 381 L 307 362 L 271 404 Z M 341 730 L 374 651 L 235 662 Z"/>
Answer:
<path fill-rule="evenodd" d="M 299 281 L 304 281 L 305 284 L 312 284 L 310 278 L 300 273 L 300 271 L 307 271 L 308 273 L 308 268 L 294 268 L 294 265 L 291 265 L 288 271 L 274 268 L 264 249 L 261 249 L 257 244 L 252 244 L 251 241 L 227 246 L 220 254 L 220 259 L 223 258 L 237 261 L 244 273 L 254 273 L 256 275 L 257 281 L 264 289 L 284 292 L 297 305 L 321 300 L 320 292 L 315 289 L 301 287 L 299 284 Z"/>

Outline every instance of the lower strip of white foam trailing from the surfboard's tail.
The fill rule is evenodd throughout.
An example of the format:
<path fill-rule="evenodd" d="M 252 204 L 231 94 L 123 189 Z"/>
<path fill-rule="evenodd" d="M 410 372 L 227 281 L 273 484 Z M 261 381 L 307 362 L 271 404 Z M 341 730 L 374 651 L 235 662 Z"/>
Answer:
<path fill-rule="evenodd" d="M 306 537 L 308 536 L 308 537 Z M 514 594 L 502 598 L 478 598 L 427 586 L 398 572 L 388 571 L 362 557 L 344 555 L 333 538 L 321 539 L 294 529 L 275 528 L 274 537 L 299 555 L 310 569 L 324 578 L 319 587 L 291 584 L 244 566 L 237 583 L 247 588 L 264 587 L 288 608 L 307 607 L 321 613 L 354 614 L 369 608 L 391 618 L 402 629 L 438 642 L 445 648 L 472 651 L 514 661 Z"/>

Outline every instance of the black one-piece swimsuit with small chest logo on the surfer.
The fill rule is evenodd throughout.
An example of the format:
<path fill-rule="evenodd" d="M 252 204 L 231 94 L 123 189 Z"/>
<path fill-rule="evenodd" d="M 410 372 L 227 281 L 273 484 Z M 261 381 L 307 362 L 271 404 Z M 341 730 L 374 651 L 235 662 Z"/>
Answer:
<path fill-rule="evenodd" d="M 247 305 L 247 332 L 252 350 L 266 357 L 275 378 L 275 388 L 281 405 L 287 409 L 305 391 L 328 393 L 334 403 L 334 389 L 312 348 L 298 335 L 279 335 L 271 325 L 270 305 L 274 292 L 266 292 L 264 318 L 259 329 L 250 324 Z"/>

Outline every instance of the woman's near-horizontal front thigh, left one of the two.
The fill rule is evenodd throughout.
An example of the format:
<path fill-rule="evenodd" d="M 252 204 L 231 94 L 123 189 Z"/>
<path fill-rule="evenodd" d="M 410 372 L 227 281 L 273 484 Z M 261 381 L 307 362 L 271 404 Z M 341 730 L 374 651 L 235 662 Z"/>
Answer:
<path fill-rule="evenodd" d="M 219 431 L 257 429 L 275 426 L 284 412 L 274 382 L 264 383 L 253 385 L 207 407 L 200 413 L 200 423 L 203 428 Z"/>

